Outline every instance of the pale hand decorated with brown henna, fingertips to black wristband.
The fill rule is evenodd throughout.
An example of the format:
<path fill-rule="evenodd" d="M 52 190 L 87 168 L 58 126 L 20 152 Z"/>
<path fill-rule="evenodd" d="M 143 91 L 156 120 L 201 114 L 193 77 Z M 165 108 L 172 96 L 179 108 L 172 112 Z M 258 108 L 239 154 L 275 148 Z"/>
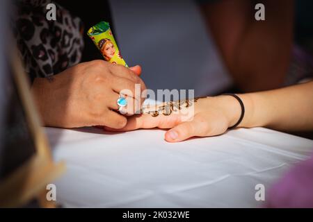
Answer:
<path fill-rule="evenodd" d="M 131 117 L 124 128 L 105 129 L 128 131 L 138 128 L 170 128 L 165 135 L 166 141 L 181 142 L 190 137 L 225 133 L 227 128 L 238 121 L 241 107 L 232 96 L 217 96 L 144 107 L 143 113 Z"/>

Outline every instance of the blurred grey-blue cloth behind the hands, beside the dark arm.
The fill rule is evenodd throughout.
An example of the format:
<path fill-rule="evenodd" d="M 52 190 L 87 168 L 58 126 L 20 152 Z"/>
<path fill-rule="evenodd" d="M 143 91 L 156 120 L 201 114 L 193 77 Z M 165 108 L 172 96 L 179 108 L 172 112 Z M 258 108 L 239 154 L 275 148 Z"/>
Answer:
<path fill-rule="evenodd" d="M 122 56 L 128 65 L 143 67 L 149 89 L 195 89 L 199 97 L 230 87 L 195 1 L 109 2 Z"/>

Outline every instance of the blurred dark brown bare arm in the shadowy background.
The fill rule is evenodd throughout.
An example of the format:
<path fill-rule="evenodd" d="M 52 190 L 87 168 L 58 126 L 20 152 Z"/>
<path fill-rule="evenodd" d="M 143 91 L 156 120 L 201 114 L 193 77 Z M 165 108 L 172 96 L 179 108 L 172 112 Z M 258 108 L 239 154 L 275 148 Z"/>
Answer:
<path fill-rule="evenodd" d="M 234 81 L 246 92 L 282 86 L 293 33 L 292 0 L 266 0 L 265 21 L 255 20 L 251 0 L 221 0 L 202 6 L 216 44 Z"/>

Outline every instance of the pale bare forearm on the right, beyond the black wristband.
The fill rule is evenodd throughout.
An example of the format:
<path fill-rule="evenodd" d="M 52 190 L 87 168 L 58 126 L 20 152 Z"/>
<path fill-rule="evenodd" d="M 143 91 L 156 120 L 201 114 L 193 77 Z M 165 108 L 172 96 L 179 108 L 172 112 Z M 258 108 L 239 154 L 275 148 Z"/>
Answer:
<path fill-rule="evenodd" d="M 313 82 L 239 96 L 246 108 L 239 127 L 313 130 Z"/>

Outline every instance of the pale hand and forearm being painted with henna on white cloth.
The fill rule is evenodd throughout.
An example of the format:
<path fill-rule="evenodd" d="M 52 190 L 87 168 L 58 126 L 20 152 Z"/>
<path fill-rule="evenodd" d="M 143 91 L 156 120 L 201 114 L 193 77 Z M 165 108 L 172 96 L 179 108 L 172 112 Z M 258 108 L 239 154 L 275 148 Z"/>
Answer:
<path fill-rule="evenodd" d="M 313 130 L 313 82 L 249 94 L 237 94 L 245 106 L 245 116 L 238 127 L 266 127 L 283 131 Z M 143 108 L 144 113 L 131 117 L 127 126 L 113 131 L 138 128 L 166 128 L 167 142 L 181 142 L 190 137 L 221 135 L 239 120 L 241 106 L 233 96 L 198 99 L 193 105 L 176 109 L 169 115 L 160 112 L 164 104 Z M 185 110 L 184 110 L 185 109 Z M 161 109 L 163 110 L 163 109 Z M 182 118 L 182 111 L 191 116 Z M 158 115 L 154 112 L 159 112 Z"/>

